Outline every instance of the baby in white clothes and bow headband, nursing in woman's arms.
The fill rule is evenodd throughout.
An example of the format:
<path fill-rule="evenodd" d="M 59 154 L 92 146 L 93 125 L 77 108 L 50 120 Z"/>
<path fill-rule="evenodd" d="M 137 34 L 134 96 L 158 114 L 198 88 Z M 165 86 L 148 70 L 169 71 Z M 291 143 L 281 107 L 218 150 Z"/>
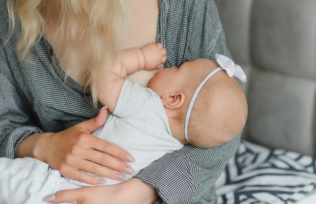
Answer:
<path fill-rule="evenodd" d="M 133 174 L 117 180 L 104 178 L 106 184 L 131 178 L 184 144 L 221 145 L 240 133 L 246 123 L 246 98 L 231 77 L 245 81 L 245 75 L 225 56 L 217 55 L 220 65 L 197 59 L 180 68 L 165 68 L 152 77 L 147 88 L 126 80 L 137 70 L 159 69 L 165 61 L 166 50 L 161 44 L 123 50 L 110 80 L 98 87 L 99 101 L 113 114 L 108 114 L 106 123 L 93 135 L 121 146 L 136 158 L 130 164 Z M 0 203 L 45 203 L 42 198 L 49 193 L 88 185 L 65 179 L 34 158 L 0 158 Z"/>

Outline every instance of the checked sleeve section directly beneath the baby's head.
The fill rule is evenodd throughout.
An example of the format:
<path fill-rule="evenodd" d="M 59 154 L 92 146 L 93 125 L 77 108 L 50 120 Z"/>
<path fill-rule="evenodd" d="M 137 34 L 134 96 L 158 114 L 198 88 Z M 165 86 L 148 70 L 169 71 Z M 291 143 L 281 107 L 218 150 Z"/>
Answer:
<path fill-rule="evenodd" d="M 209 191 L 237 151 L 240 137 L 211 148 L 186 145 L 141 170 L 136 177 L 157 189 L 160 200 L 156 203 L 198 203 L 206 199 L 205 193 L 215 203 Z"/>

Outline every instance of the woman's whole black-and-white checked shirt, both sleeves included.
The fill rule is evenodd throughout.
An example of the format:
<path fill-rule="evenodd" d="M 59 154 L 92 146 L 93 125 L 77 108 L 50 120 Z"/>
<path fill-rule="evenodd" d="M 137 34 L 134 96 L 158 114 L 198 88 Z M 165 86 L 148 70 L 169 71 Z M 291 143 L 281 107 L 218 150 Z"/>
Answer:
<path fill-rule="evenodd" d="M 0 156 L 13 158 L 32 133 L 59 132 L 97 115 L 89 90 L 65 72 L 45 37 L 30 51 L 15 53 L 19 29 L 8 36 L 7 0 L 0 0 Z M 166 67 L 196 58 L 230 56 L 213 0 L 161 0 L 157 42 L 167 49 Z M 203 119 L 203 118 L 201 118 Z M 240 135 L 213 148 L 185 146 L 142 170 L 137 178 L 155 187 L 156 203 L 215 203 L 214 184 L 240 144 Z"/>

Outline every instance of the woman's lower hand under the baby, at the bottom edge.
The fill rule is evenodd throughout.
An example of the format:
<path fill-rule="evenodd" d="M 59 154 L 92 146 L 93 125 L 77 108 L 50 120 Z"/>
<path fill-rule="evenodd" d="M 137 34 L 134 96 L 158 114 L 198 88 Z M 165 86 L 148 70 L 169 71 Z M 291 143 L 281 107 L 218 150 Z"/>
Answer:
<path fill-rule="evenodd" d="M 156 190 L 137 178 L 115 185 L 101 185 L 93 187 L 62 190 L 48 195 L 45 201 L 51 203 L 153 203 L 157 200 Z"/>

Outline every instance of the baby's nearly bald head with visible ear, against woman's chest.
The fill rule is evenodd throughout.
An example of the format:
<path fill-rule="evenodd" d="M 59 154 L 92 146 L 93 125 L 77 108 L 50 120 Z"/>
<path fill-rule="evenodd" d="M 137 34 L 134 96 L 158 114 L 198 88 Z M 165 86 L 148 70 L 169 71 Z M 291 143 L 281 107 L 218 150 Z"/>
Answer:
<path fill-rule="evenodd" d="M 184 144 L 188 141 L 197 147 L 212 147 L 226 143 L 246 123 L 244 92 L 235 77 L 217 67 L 219 64 L 214 61 L 197 59 L 185 62 L 180 68 L 162 70 L 148 84 L 162 98 L 174 137 Z M 217 72 L 205 79 L 214 70 Z M 200 90 L 193 97 L 199 85 Z"/>

